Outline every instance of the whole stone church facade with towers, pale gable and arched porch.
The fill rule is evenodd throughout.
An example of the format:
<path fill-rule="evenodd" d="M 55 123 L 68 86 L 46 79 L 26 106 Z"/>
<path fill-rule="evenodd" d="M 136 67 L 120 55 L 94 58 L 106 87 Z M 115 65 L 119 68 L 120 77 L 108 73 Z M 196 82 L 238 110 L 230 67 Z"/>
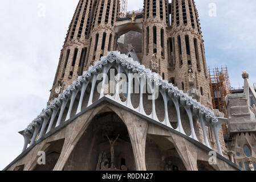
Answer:
<path fill-rule="evenodd" d="M 254 152 L 235 157 L 221 129 L 229 119 L 213 109 L 194 0 L 144 0 L 125 18 L 119 9 L 119 0 L 79 1 L 47 107 L 5 170 L 252 169 Z"/>

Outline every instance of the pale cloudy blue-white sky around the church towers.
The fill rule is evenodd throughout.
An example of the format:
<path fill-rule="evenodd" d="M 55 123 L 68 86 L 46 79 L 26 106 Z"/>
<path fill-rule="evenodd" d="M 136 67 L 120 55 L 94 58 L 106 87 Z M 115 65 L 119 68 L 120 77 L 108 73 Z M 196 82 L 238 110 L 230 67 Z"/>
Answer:
<path fill-rule="evenodd" d="M 23 147 L 18 134 L 40 114 L 54 81 L 60 49 L 78 0 L 10 0 L 0 6 L 0 169 Z M 209 16 L 209 5 L 217 6 Z M 243 69 L 256 82 L 256 1 L 196 0 L 206 60 L 227 65 L 231 86 L 243 86 Z M 43 15 L 42 8 L 46 7 Z M 212 7 L 212 6 L 211 6 Z M 143 0 L 128 0 L 128 10 Z M 210 11 L 212 13 L 212 11 Z M 212 15 L 212 14 L 210 14 Z"/>

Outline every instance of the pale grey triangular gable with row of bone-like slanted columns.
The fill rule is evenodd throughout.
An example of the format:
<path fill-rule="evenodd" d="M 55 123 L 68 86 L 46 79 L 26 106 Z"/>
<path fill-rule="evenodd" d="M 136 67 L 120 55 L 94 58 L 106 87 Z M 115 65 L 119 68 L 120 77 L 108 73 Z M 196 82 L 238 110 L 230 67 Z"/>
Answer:
<path fill-rule="evenodd" d="M 138 61 L 134 61 L 131 57 L 128 57 L 127 55 L 120 54 L 118 51 L 108 52 L 107 56 L 101 57 L 100 61 L 95 61 L 94 66 L 90 67 L 88 71 L 83 73 L 83 76 L 79 76 L 78 80 L 73 81 L 72 85 L 69 85 L 66 90 L 63 90 L 63 93 L 59 94 L 58 98 L 55 98 L 54 101 L 51 101 L 50 105 L 46 107 L 46 109 L 43 109 L 42 113 L 34 119 L 30 123 L 30 125 L 23 131 L 23 137 L 25 138 L 25 144 L 23 147 L 23 151 L 26 150 L 27 145 L 29 144 L 29 141 L 31 140 L 30 146 L 35 143 L 35 140 L 39 140 L 43 137 L 43 135 L 47 134 L 49 131 L 54 129 L 54 127 L 62 125 L 62 121 L 66 122 L 71 117 L 71 111 L 74 106 L 75 98 L 80 91 L 80 100 L 78 103 L 78 108 L 76 109 L 76 114 L 79 114 L 81 112 L 82 104 L 83 104 L 83 98 L 85 97 L 85 91 L 89 84 L 91 84 L 91 92 L 90 96 L 88 98 L 88 104 L 87 107 L 90 106 L 93 103 L 93 97 L 94 97 L 94 90 L 97 88 L 98 85 L 96 82 L 97 76 L 100 73 L 107 73 L 109 72 L 109 69 L 114 67 L 118 73 L 137 73 L 137 77 L 143 77 L 150 80 L 153 85 L 159 86 L 159 94 L 161 94 L 163 98 L 163 103 L 165 107 L 165 118 L 162 122 L 163 125 L 166 127 L 169 127 L 173 129 L 173 127 L 170 125 L 170 121 L 168 118 L 168 101 L 172 100 L 177 111 L 177 118 L 178 118 L 178 127 L 177 130 L 179 133 L 182 133 L 184 135 L 185 132 L 182 128 L 181 124 L 181 113 L 180 113 L 180 107 L 183 107 L 186 110 L 186 114 L 188 114 L 189 123 L 190 123 L 190 129 L 191 129 L 191 135 L 188 136 L 194 140 L 197 140 L 194 126 L 193 126 L 193 117 L 197 117 L 201 123 L 202 126 L 202 133 L 204 134 L 204 142 L 203 144 L 206 147 L 210 148 L 209 142 L 208 142 L 208 136 L 206 134 L 205 126 L 210 126 L 213 130 L 214 136 L 217 141 L 217 147 L 218 147 L 218 153 L 222 155 L 221 146 L 220 146 L 220 140 L 218 138 L 218 131 L 220 130 L 221 125 L 226 122 L 225 118 L 217 118 L 212 110 L 209 110 L 204 105 L 201 105 L 196 100 L 193 100 L 192 97 L 188 96 L 188 94 L 183 93 L 182 90 L 179 90 L 176 86 L 173 86 L 172 84 L 168 83 L 168 81 L 163 80 L 161 76 L 157 75 L 157 73 L 151 72 L 150 69 L 145 68 L 144 65 L 141 65 Z M 117 76 L 118 77 L 118 76 Z M 105 82 L 106 76 L 103 76 L 102 82 Z M 133 77 L 128 76 L 128 88 L 131 88 Z M 128 89 L 127 93 L 127 100 L 125 102 L 121 101 L 120 94 L 119 94 L 119 81 L 117 78 L 117 86 L 115 88 L 116 92 L 118 94 L 114 94 L 113 96 L 107 95 L 104 96 L 104 85 L 101 86 L 99 99 L 102 97 L 108 97 L 111 98 L 111 100 L 118 102 L 119 104 L 123 105 L 124 107 L 128 107 L 129 109 L 132 109 L 133 111 L 136 111 L 138 113 L 143 114 L 145 117 L 148 117 L 150 119 L 153 119 L 156 122 L 160 122 L 156 115 L 156 105 L 155 100 L 152 99 L 152 113 L 147 115 L 145 114 L 144 107 L 143 107 L 143 92 L 140 90 L 140 102 L 139 107 L 134 108 L 131 104 L 131 90 Z M 145 80 L 140 79 L 140 89 L 144 88 Z M 152 93 L 152 92 L 151 92 Z M 154 95 L 152 95 L 153 97 Z M 67 105 L 69 103 L 69 105 Z M 63 112 L 64 109 L 68 107 L 68 113 L 66 118 L 63 120 Z M 53 123 L 56 118 L 56 114 L 59 111 L 59 116 L 56 122 L 56 126 L 53 126 Z M 46 128 L 47 127 L 47 128 Z M 46 131 L 46 133 L 45 133 Z M 38 137 L 37 137 L 38 136 Z"/>

